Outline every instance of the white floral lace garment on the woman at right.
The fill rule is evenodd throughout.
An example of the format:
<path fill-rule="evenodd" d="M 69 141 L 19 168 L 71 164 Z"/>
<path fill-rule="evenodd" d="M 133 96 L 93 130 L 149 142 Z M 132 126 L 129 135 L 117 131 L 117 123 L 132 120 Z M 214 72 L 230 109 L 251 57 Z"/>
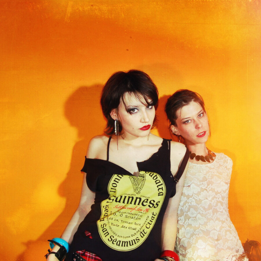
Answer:
<path fill-rule="evenodd" d="M 210 164 L 189 162 L 178 210 L 175 251 L 180 261 L 248 260 L 229 217 L 232 164 L 223 153 Z"/>

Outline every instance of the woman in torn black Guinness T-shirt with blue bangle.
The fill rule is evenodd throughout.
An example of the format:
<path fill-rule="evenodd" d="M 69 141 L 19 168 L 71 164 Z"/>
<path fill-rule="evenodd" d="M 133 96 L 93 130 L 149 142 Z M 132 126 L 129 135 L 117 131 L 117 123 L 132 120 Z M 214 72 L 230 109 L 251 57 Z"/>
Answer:
<path fill-rule="evenodd" d="M 108 79 L 101 106 L 110 136 L 89 143 L 79 206 L 48 261 L 61 260 L 59 244 L 67 242 L 66 261 L 178 261 L 173 224 L 189 152 L 151 134 L 157 102 L 157 88 L 142 71 Z"/>

